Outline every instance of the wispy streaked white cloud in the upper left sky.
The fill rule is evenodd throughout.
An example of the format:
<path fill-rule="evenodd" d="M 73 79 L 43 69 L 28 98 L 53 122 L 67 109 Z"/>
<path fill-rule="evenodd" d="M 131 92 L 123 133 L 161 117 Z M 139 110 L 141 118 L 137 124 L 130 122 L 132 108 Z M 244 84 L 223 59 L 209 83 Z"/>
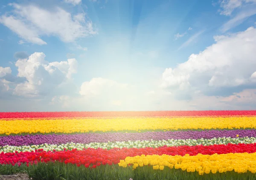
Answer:
<path fill-rule="evenodd" d="M 57 36 L 64 42 L 73 42 L 80 37 L 96 34 L 92 22 L 84 13 L 73 15 L 59 7 L 48 11 L 33 5 L 22 6 L 14 3 L 12 6 L 15 15 L 1 16 L 0 23 L 28 42 L 46 44 L 41 39 L 44 35 Z"/>

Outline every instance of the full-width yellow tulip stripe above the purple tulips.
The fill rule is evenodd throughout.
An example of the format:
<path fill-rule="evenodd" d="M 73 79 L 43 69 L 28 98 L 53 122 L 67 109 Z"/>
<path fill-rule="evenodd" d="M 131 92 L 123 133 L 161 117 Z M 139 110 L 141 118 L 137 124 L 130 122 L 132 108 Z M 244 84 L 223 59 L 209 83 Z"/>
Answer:
<path fill-rule="evenodd" d="M 0 134 L 140 130 L 255 129 L 256 117 L 122 118 L 0 121 Z"/>

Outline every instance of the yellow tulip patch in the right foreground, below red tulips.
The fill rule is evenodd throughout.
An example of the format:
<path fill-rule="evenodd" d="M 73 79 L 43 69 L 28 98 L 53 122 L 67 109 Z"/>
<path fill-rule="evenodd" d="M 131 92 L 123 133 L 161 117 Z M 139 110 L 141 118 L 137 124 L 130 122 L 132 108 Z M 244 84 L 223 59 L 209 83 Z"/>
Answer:
<path fill-rule="evenodd" d="M 246 173 L 250 171 L 256 173 L 256 153 L 229 153 L 229 154 L 213 154 L 195 156 L 170 156 L 170 155 L 141 155 L 137 157 L 126 157 L 120 160 L 119 166 L 126 168 L 129 164 L 133 165 L 133 169 L 138 166 L 153 166 L 153 169 L 163 170 L 166 168 L 182 169 L 187 172 L 195 172 L 202 175 L 210 172 L 223 173 L 226 171 L 235 171 L 236 173 Z"/>

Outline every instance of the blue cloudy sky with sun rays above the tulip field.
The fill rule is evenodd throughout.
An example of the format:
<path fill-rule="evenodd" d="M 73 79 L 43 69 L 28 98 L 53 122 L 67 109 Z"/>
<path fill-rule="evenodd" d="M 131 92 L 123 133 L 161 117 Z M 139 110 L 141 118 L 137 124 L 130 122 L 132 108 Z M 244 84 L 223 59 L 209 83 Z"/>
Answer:
<path fill-rule="evenodd" d="M 1 0 L 0 111 L 256 109 L 256 0 Z"/>

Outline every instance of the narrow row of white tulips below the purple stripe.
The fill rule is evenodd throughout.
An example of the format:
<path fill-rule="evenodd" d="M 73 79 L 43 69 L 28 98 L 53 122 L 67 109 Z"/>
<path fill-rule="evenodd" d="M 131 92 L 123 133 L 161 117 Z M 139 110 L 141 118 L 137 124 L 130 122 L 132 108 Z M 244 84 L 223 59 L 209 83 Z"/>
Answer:
<path fill-rule="evenodd" d="M 256 137 L 243 137 L 243 138 L 230 138 L 230 137 L 219 137 L 212 139 L 186 139 L 186 140 L 137 140 L 137 141 L 128 141 L 128 142 L 108 142 L 108 143 L 89 143 L 89 144 L 81 144 L 81 143 L 66 143 L 61 145 L 56 144 L 41 144 L 41 145 L 31 145 L 31 146 L 3 146 L 0 147 L 0 152 L 25 152 L 25 151 L 35 151 L 35 149 L 44 149 L 44 151 L 63 151 L 64 149 L 87 149 L 87 148 L 102 148 L 102 149 L 113 149 L 113 148 L 145 148 L 145 147 L 153 147 L 157 148 L 160 146 L 196 146 L 196 145 L 214 145 L 214 144 L 249 144 L 256 143 Z"/>

